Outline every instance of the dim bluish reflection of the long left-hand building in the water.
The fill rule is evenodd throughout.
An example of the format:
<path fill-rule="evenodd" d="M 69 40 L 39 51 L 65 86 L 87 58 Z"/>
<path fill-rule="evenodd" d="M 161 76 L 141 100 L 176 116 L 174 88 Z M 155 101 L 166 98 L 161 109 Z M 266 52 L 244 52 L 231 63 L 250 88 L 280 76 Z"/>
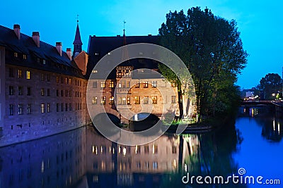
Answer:
<path fill-rule="evenodd" d="M 86 172 L 86 129 L 0 149 L 0 187 L 69 187 Z"/>

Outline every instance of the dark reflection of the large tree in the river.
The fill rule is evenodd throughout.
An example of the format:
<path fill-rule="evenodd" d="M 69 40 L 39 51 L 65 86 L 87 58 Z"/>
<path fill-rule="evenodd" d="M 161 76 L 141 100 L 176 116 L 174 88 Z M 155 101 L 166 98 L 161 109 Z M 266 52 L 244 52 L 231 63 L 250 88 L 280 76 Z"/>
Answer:
<path fill-rule="evenodd" d="M 223 176 L 238 175 L 238 165 L 233 161 L 232 154 L 237 151 L 237 146 L 241 144 L 240 132 L 236 130 L 234 123 L 225 125 L 220 130 L 209 134 L 199 134 L 199 146 L 197 152 L 185 158 L 187 172 L 190 175 Z M 198 185 L 199 187 L 246 187 L 241 184 L 221 185 L 211 184 Z M 198 187 L 197 186 L 197 187 Z M 195 187 L 195 186 L 194 186 Z"/>

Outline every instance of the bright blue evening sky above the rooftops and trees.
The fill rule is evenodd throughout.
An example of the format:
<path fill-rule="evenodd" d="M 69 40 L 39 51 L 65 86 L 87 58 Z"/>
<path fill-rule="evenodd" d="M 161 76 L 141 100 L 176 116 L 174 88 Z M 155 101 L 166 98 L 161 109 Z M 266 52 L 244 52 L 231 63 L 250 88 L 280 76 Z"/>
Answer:
<path fill-rule="evenodd" d="M 236 20 L 241 32 L 243 48 L 248 52 L 248 64 L 238 75 L 238 84 L 249 89 L 259 84 L 267 73 L 282 76 L 283 66 L 283 1 L 246 0 L 144 0 L 144 1 L 2 1 L 0 25 L 13 29 L 21 25 L 21 32 L 32 35 L 40 32 L 40 40 L 55 45 L 62 42 L 64 51 L 73 48 L 76 15 L 83 50 L 88 49 L 88 38 L 122 35 L 125 20 L 126 35 L 157 35 L 166 22 L 166 13 L 194 6 L 207 7 L 214 15 Z"/>

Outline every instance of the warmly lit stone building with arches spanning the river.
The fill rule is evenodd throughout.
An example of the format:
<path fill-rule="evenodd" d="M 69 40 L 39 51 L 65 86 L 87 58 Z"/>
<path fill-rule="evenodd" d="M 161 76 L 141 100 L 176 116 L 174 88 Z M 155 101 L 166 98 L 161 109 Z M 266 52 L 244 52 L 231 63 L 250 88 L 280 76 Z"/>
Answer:
<path fill-rule="evenodd" d="M 95 112 L 91 116 L 105 111 L 120 118 L 122 123 L 128 120 L 139 120 L 139 113 L 151 113 L 158 118 L 164 118 L 165 113 L 171 111 L 175 115 L 178 112 L 178 90 L 174 83 L 166 82 L 166 79 L 158 73 L 158 62 L 148 58 L 135 58 L 117 65 L 108 75 L 99 75 L 95 66 L 104 56 L 112 56 L 111 51 L 126 44 L 150 43 L 158 44 L 158 36 L 120 36 L 117 37 L 89 37 L 88 63 L 86 77 L 88 80 L 88 110 Z M 143 54 L 143 51 L 139 52 Z M 127 49 L 123 49 L 122 58 L 127 56 Z M 114 61 L 119 61 L 115 59 Z M 105 69 L 107 69 L 105 65 Z M 103 92 L 102 96 L 99 94 Z"/>

